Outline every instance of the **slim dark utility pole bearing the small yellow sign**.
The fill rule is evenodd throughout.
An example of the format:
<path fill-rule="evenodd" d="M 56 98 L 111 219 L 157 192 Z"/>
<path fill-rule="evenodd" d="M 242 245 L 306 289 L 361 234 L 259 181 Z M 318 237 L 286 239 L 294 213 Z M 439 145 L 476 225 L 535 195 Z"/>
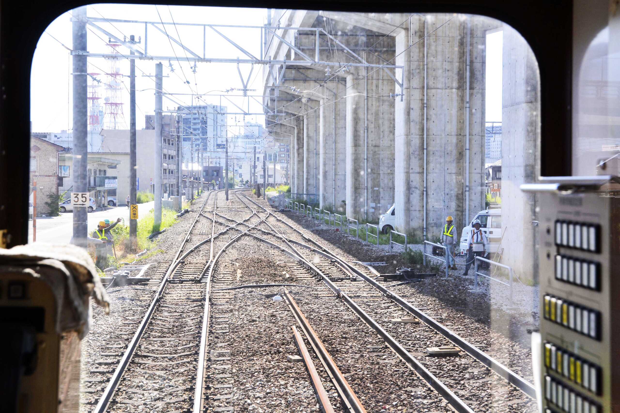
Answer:
<path fill-rule="evenodd" d="M 129 37 L 130 43 L 135 42 L 135 36 Z M 135 54 L 130 50 L 130 54 Z M 161 123 L 160 123 L 161 128 Z M 131 205 L 136 205 L 136 60 L 129 61 L 129 199 Z M 138 220 L 129 220 L 130 250 L 138 249 Z"/>

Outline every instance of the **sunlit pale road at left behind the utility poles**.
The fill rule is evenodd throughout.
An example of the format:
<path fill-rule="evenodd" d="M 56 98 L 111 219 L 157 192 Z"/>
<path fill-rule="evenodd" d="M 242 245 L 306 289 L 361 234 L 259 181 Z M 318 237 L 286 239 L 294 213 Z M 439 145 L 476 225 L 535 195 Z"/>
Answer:
<path fill-rule="evenodd" d="M 153 209 L 155 202 L 138 204 L 138 218 L 148 214 Z M 129 222 L 129 209 L 121 205 L 108 207 L 107 211 L 94 211 L 88 214 L 89 235 L 97 229 L 97 223 L 102 220 L 115 221 L 118 217 Z M 64 212 L 58 217 L 37 217 L 37 242 L 51 242 L 66 244 L 73 235 L 73 212 Z M 32 221 L 28 221 L 28 242 L 32 242 Z"/>

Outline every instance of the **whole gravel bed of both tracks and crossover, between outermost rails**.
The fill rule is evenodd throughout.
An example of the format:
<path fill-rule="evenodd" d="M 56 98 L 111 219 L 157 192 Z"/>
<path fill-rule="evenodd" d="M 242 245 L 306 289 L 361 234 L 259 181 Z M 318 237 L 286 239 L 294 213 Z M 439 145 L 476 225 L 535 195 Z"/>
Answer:
<path fill-rule="evenodd" d="M 218 194 L 167 263 L 94 412 L 536 409 L 529 383 L 365 267 L 242 190 L 231 191 L 232 205 Z M 400 322 L 412 314 L 417 322 Z M 452 342 L 465 351 L 424 352 Z M 288 361 L 296 354 L 303 363 Z"/>

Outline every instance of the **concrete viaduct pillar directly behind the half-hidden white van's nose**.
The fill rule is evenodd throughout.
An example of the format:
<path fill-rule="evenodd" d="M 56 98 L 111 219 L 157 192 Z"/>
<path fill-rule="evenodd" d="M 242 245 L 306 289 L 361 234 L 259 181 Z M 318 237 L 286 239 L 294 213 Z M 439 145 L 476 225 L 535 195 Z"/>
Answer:
<path fill-rule="evenodd" d="M 394 58 L 365 54 L 371 64 Z M 393 72 L 393 69 L 389 69 Z M 383 69 L 355 68 L 347 76 L 347 217 L 378 219 L 394 202 L 395 82 Z M 368 74 L 368 76 L 365 76 Z"/>

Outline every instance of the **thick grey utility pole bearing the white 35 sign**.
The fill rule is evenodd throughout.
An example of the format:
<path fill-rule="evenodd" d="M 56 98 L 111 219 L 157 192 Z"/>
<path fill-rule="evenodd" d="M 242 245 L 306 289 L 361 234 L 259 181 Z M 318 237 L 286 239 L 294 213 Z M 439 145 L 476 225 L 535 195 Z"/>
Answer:
<path fill-rule="evenodd" d="M 73 10 L 73 50 L 87 51 L 86 6 Z M 73 55 L 73 192 L 88 193 L 87 82 L 86 56 Z M 88 204 L 73 210 L 73 243 L 86 248 Z"/>

